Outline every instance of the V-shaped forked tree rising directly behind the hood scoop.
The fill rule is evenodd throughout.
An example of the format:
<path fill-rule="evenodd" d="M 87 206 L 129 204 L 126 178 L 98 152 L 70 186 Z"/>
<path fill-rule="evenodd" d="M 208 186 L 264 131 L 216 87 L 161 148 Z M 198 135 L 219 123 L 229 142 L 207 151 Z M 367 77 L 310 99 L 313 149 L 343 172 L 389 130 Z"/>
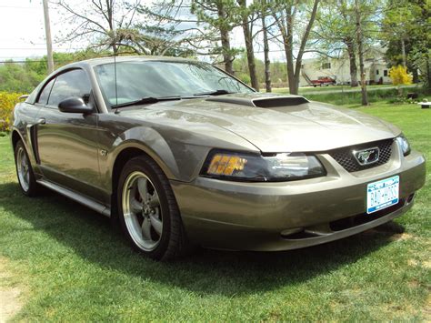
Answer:
<path fill-rule="evenodd" d="M 278 31 L 282 37 L 286 54 L 287 80 L 289 83 L 290 94 L 297 95 L 299 87 L 299 77 L 301 76 L 302 57 L 306 52 L 306 45 L 311 28 L 316 19 L 317 7 L 320 0 L 312 1 L 311 12 L 306 13 L 307 3 L 298 0 L 277 1 L 272 7 L 272 15 L 276 21 Z M 306 13 L 306 14 L 304 14 Z M 301 19 L 298 15 L 301 14 Z M 305 21 L 303 28 L 297 24 L 298 20 Z M 302 33 L 295 35 L 295 32 L 302 30 Z M 296 38 L 299 39 L 299 48 L 296 53 L 296 62 L 294 57 L 294 45 Z M 294 63 L 295 62 L 295 63 Z"/>

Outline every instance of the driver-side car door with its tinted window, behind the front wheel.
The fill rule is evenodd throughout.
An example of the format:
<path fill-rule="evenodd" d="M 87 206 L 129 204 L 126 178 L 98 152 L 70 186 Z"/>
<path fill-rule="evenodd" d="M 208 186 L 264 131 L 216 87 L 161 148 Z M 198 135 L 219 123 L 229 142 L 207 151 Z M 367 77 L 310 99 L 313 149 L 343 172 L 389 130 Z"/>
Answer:
<path fill-rule="evenodd" d="M 41 101 L 37 119 L 37 150 L 45 179 L 62 187 L 99 199 L 97 113 L 65 113 L 58 104 L 65 98 L 81 97 L 94 104 L 91 83 L 80 68 L 68 70 L 52 80 L 46 102 Z M 49 85 L 47 85 L 49 86 Z"/>

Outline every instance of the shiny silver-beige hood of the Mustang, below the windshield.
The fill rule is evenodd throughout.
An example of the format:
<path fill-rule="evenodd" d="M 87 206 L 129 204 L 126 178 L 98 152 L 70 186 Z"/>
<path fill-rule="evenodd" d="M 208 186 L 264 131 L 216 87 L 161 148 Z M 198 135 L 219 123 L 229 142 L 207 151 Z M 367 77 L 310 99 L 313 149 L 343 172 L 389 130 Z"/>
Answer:
<path fill-rule="evenodd" d="M 199 128 L 212 124 L 245 138 L 262 152 L 326 151 L 392 138 L 400 130 L 354 109 L 309 102 L 302 96 L 226 95 L 145 106 L 145 120 Z M 125 111 L 141 115 L 141 110 Z M 122 111 L 123 112 L 123 111 Z"/>

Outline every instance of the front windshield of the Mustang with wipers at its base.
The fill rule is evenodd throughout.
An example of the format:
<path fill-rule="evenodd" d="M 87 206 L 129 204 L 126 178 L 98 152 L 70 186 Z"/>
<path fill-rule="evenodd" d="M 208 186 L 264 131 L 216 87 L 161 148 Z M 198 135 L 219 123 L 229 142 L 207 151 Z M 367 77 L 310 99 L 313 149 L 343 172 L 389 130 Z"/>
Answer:
<path fill-rule="evenodd" d="M 95 74 L 109 106 L 145 97 L 193 97 L 253 92 L 235 78 L 202 62 L 117 62 L 116 68 L 114 63 L 95 66 Z"/>

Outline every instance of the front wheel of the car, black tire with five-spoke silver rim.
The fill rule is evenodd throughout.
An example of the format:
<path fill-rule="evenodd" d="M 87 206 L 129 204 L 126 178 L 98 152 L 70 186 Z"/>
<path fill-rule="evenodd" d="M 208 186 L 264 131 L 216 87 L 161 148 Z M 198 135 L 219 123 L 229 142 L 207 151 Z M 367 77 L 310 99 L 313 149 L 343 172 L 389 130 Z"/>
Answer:
<path fill-rule="evenodd" d="M 165 261 L 190 250 L 174 192 L 151 158 L 137 156 L 125 164 L 117 205 L 125 237 L 140 253 Z"/>

